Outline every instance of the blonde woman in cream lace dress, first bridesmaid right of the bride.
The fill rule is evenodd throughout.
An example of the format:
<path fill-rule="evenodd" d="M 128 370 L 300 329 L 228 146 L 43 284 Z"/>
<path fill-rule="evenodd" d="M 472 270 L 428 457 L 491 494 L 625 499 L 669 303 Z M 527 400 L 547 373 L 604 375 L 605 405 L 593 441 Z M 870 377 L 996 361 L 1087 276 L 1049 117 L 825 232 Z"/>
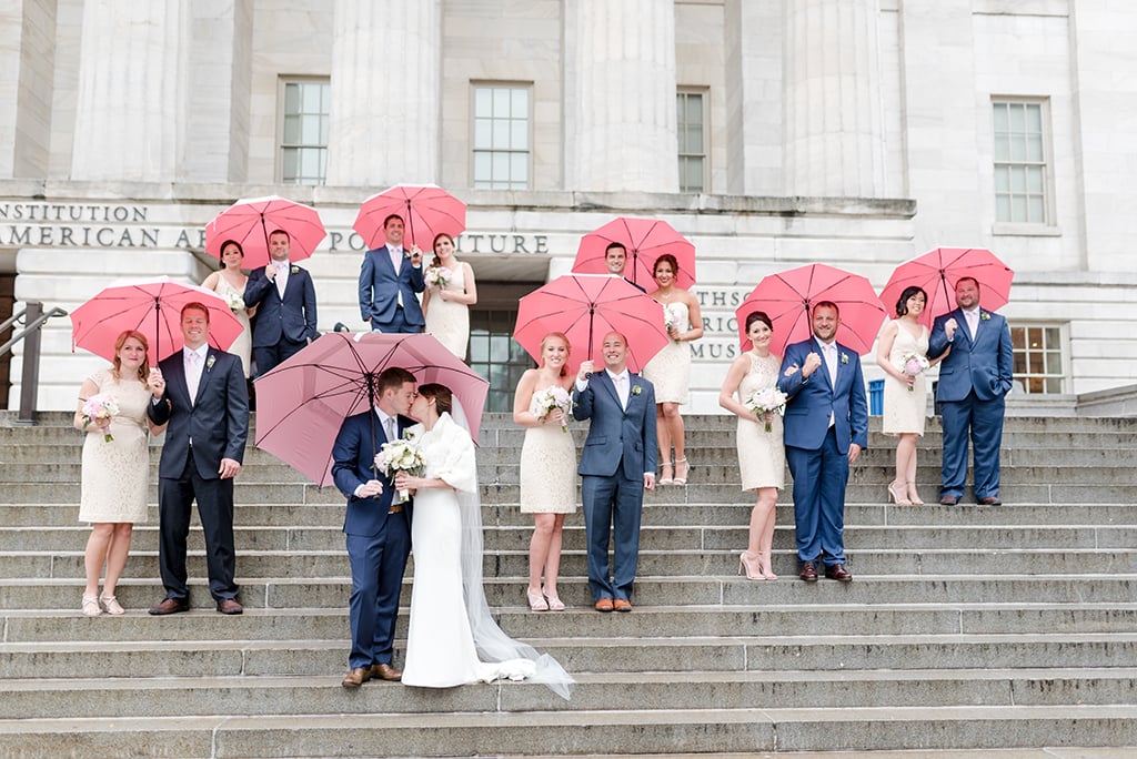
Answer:
<path fill-rule="evenodd" d="M 521 448 L 521 511 L 533 515 L 526 593 L 533 611 L 565 608 L 557 595 L 557 575 L 565 515 L 576 510 L 576 447 L 565 431 L 567 409 L 542 408 L 534 397 L 550 387 L 571 394 L 574 377 L 568 372 L 570 352 L 568 339 L 563 334 L 545 335 L 540 366 L 521 375 L 513 397 L 513 420 L 526 428 Z"/>

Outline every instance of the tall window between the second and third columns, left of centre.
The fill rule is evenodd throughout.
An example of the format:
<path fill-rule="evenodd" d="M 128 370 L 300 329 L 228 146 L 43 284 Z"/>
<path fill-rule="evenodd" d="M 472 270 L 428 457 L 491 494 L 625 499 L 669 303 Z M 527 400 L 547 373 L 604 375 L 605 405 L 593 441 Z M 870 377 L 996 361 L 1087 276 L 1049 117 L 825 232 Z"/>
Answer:
<path fill-rule="evenodd" d="M 530 87 L 474 85 L 474 187 L 529 189 Z"/>

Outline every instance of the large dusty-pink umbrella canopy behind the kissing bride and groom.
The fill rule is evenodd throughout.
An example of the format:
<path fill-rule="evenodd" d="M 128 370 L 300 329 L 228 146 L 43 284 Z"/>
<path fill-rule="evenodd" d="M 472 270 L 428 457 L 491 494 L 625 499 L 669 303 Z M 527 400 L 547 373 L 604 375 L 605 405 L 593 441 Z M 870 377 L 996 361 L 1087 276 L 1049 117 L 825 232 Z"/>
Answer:
<path fill-rule="evenodd" d="M 449 387 L 478 442 L 489 382 L 442 343 L 428 334 L 332 332 L 256 381 L 257 448 L 319 486 L 331 484 L 340 426 L 374 406 L 379 375 L 389 366 L 410 372 L 420 384 Z"/>

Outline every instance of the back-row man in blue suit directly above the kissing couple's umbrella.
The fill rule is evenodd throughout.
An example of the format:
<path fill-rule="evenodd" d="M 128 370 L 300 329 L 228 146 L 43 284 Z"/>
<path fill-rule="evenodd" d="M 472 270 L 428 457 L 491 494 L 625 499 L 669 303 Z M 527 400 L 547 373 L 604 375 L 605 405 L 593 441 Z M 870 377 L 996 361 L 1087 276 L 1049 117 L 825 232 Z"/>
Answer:
<path fill-rule="evenodd" d="M 416 293 L 426 287 L 422 251 L 402 248 L 402 217 L 383 219 L 387 244 L 363 255 L 359 314 L 372 332 L 422 332 L 426 326 Z"/>

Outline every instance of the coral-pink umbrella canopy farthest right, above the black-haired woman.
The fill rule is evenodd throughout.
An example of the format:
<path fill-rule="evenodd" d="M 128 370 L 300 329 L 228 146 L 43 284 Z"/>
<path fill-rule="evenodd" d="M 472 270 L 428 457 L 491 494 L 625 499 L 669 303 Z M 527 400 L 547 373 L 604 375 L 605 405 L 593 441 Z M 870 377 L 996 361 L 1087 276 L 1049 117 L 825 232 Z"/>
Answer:
<path fill-rule="evenodd" d="M 896 267 L 880 300 L 891 312 L 905 287 L 923 287 L 928 293 L 920 322 L 931 327 L 932 320 L 955 308 L 955 284 L 963 277 L 979 283 L 979 303 L 986 309 L 1003 308 L 1011 300 L 1011 280 L 1006 264 L 985 248 L 937 248 Z"/>

